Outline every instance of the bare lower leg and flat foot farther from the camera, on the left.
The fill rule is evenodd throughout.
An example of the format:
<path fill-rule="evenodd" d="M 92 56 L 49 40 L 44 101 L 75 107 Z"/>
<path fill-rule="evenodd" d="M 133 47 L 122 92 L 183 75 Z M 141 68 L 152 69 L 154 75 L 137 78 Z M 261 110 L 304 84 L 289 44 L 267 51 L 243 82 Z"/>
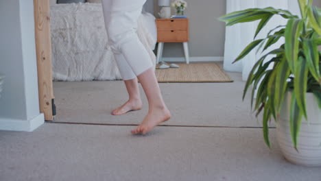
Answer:
<path fill-rule="evenodd" d="M 124 80 L 123 82 L 125 82 L 129 99 L 128 101 L 126 101 L 125 104 L 123 104 L 123 106 L 120 106 L 115 110 L 112 110 L 113 115 L 121 115 L 131 110 L 141 109 L 141 95 L 139 93 L 137 78 L 134 78 L 132 80 Z"/>

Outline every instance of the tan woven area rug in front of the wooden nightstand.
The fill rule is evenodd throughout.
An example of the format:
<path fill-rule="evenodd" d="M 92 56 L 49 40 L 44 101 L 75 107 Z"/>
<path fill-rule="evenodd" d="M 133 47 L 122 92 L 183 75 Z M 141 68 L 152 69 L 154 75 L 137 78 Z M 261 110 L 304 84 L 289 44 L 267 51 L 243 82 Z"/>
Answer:
<path fill-rule="evenodd" d="M 178 65 L 180 68 L 156 69 L 158 82 L 233 82 L 216 63 Z"/>

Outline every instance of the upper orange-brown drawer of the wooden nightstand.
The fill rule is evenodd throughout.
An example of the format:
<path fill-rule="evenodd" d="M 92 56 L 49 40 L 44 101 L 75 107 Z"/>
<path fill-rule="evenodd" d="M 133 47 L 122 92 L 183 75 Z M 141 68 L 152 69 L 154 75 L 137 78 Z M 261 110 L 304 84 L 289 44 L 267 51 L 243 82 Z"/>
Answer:
<path fill-rule="evenodd" d="M 188 19 L 157 19 L 158 30 L 188 30 Z"/>

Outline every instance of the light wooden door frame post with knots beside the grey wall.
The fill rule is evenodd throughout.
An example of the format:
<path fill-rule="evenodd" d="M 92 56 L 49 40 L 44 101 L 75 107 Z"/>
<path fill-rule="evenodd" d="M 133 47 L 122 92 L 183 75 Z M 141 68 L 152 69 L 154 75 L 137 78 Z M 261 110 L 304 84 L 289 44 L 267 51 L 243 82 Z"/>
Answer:
<path fill-rule="evenodd" d="M 53 121 L 56 107 L 52 84 L 49 0 L 34 0 L 34 26 L 40 112 L 45 114 L 46 121 Z"/>

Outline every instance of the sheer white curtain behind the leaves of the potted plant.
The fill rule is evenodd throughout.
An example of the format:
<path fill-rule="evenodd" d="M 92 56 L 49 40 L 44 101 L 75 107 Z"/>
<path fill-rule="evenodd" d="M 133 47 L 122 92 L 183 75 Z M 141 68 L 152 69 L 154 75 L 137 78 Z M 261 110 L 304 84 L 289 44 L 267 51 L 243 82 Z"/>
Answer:
<path fill-rule="evenodd" d="M 226 12 L 235 12 L 238 10 L 245 10 L 247 8 L 266 8 L 272 6 L 273 8 L 290 10 L 294 14 L 299 14 L 297 0 L 226 0 Z M 225 71 L 237 71 L 242 73 L 242 79 L 246 80 L 248 74 L 252 69 L 255 62 L 262 56 L 256 54 L 255 50 L 248 54 L 243 60 L 232 64 L 237 58 L 239 53 L 253 41 L 257 24 L 253 23 L 241 23 L 233 25 L 232 27 L 226 27 L 226 41 L 224 51 L 224 70 Z M 278 25 L 285 25 L 286 21 L 281 17 L 274 17 L 270 20 L 270 23 L 261 31 L 257 38 L 263 38 L 268 34 L 270 29 Z M 281 41 L 270 47 L 267 51 L 275 49 L 280 46 Z M 266 52 L 266 51 L 265 51 Z M 264 53 L 265 53 L 264 52 Z"/>

